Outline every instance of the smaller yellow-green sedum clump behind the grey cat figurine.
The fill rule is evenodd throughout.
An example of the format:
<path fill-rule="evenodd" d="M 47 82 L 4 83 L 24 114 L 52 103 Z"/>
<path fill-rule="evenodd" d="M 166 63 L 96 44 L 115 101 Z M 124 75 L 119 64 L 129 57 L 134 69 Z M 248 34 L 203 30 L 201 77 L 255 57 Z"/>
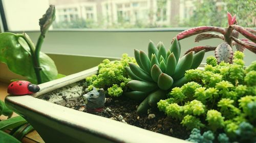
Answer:
<path fill-rule="evenodd" d="M 120 61 L 103 60 L 98 65 L 98 74 L 86 78 L 88 91 L 93 87 L 103 88 L 111 97 L 121 96 L 126 91 L 127 82 L 131 80 L 124 69 L 129 65 L 128 63 L 136 63 L 136 61 L 127 54 L 123 54 Z"/>

